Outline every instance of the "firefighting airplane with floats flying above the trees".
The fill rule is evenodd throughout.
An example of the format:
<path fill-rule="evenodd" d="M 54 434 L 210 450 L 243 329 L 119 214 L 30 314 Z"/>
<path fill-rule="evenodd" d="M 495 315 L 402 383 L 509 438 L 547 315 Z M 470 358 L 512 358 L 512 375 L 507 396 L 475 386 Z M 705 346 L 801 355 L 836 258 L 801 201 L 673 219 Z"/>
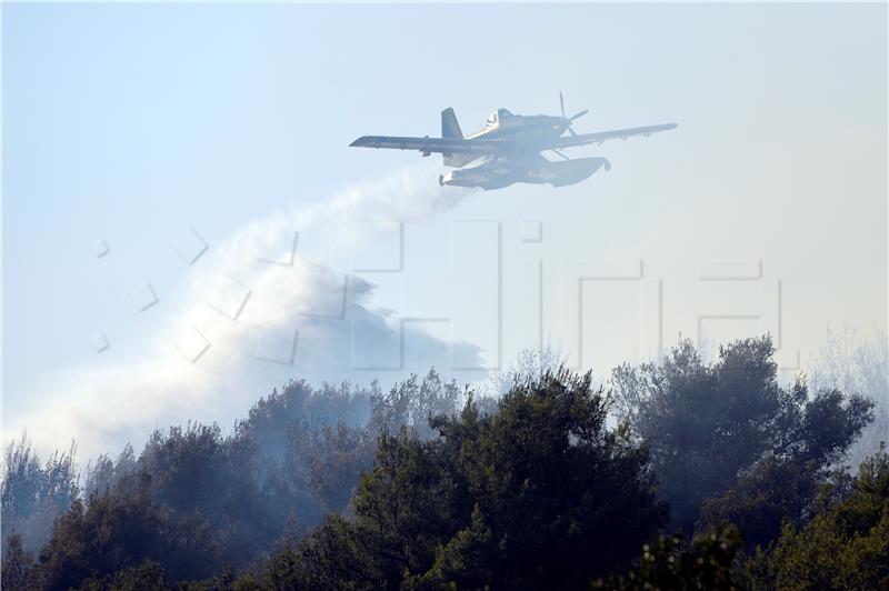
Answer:
<path fill-rule="evenodd" d="M 569 159 L 561 150 L 605 140 L 631 136 L 650 136 L 675 129 L 676 123 L 662 123 L 640 128 L 616 129 L 596 133 L 577 133 L 571 129 L 575 120 L 589 111 L 582 110 L 572 117 L 565 116 L 565 98 L 559 92 L 561 117 L 545 114 L 512 114 L 507 109 L 497 109 L 476 133 L 463 136 L 453 109 L 441 111 L 441 138 L 362 136 L 350 147 L 387 148 L 393 150 L 419 150 L 423 157 L 441 153 L 444 166 L 453 168 L 439 176 L 439 184 L 450 187 L 480 187 L 485 190 L 501 189 L 516 182 L 552 187 L 575 184 L 591 177 L 605 167 L 611 170 L 605 158 Z M 565 132 L 568 136 L 565 136 Z M 562 161 L 550 161 L 540 152 L 551 150 Z"/>

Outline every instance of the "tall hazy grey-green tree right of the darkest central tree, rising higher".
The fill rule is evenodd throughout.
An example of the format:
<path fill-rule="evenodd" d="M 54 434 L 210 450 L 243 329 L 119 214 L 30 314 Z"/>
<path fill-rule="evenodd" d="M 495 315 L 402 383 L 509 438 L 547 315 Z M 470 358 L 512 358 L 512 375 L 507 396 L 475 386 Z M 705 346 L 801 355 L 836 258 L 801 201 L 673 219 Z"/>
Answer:
<path fill-rule="evenodd" d="M 681 530 L 692 531 L 703 502 L 739 475 L 756 480 L 762 468 L 755 465 L 768 454 L 812 462 L 818 474 L 872 419 L 872 402 L 859 394 L 810 395 L 802 379 L 781 387 L 773 354 L 766 335 L 720 347 L 719 359 L 706 364 L 686 340 L 658 363 L 615 370 L 619 418 L 651 444 L 660 493 Z"/>

